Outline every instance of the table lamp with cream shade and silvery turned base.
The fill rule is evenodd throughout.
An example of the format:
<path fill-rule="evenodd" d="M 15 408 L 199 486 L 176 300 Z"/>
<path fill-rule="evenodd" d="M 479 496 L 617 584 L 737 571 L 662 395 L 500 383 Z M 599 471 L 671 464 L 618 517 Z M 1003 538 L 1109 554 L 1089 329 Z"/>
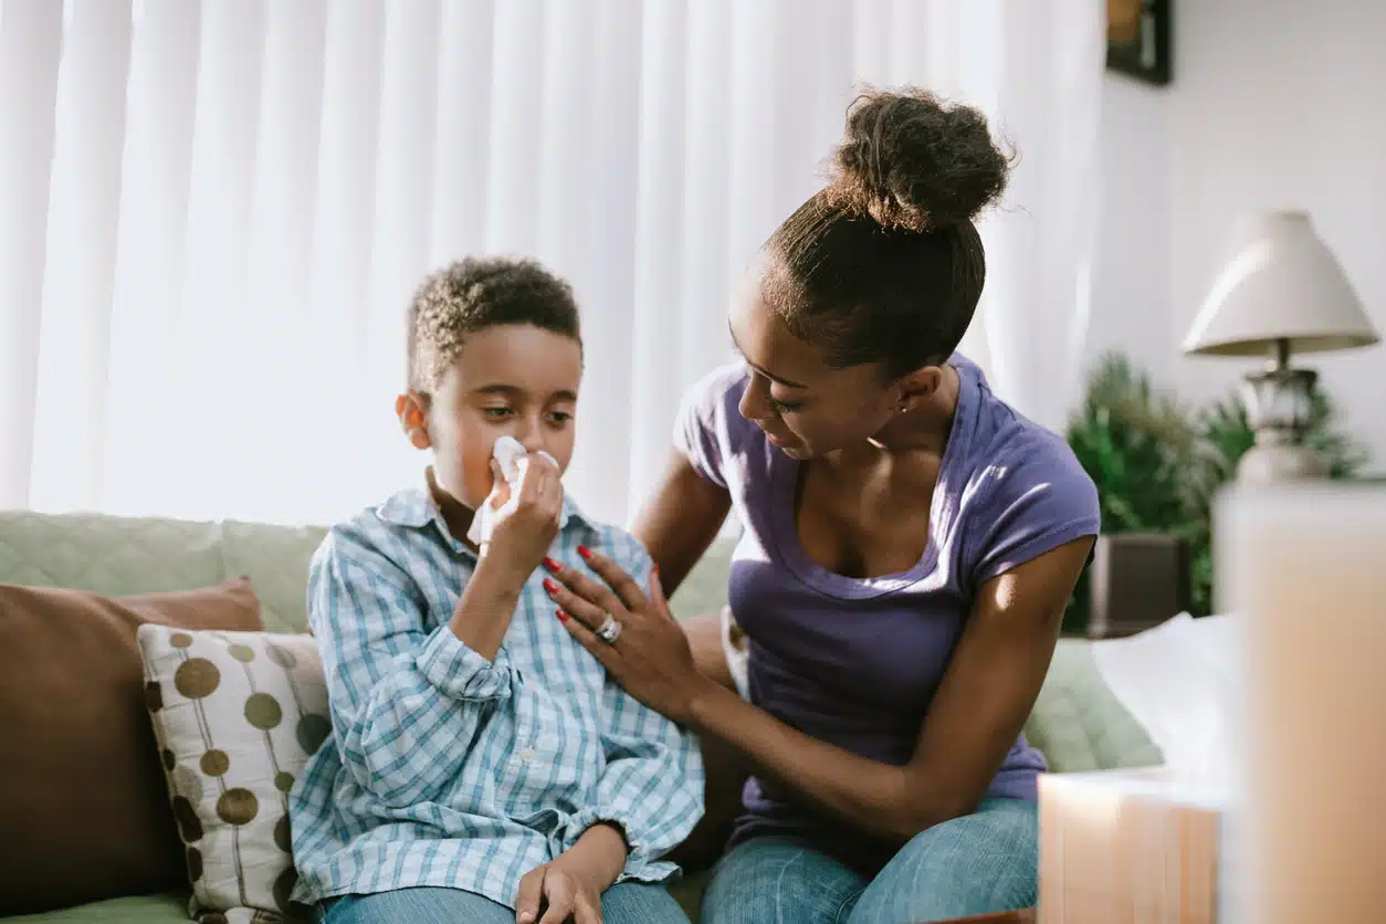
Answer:
<path fill-rule="evenodd" d="M 1256 445 L 1238 463 L 1239 482 L 1267 483 L 1328 474 L 1303 442 L 1318 374 L 1290 368 L 1290 353 L 1371 346 L 1380 337 L 1306 212 L 1243 219 L 1222 272 L 1193 320 L 1184 352 L 1263 356 L 1242 400 Z"/>

